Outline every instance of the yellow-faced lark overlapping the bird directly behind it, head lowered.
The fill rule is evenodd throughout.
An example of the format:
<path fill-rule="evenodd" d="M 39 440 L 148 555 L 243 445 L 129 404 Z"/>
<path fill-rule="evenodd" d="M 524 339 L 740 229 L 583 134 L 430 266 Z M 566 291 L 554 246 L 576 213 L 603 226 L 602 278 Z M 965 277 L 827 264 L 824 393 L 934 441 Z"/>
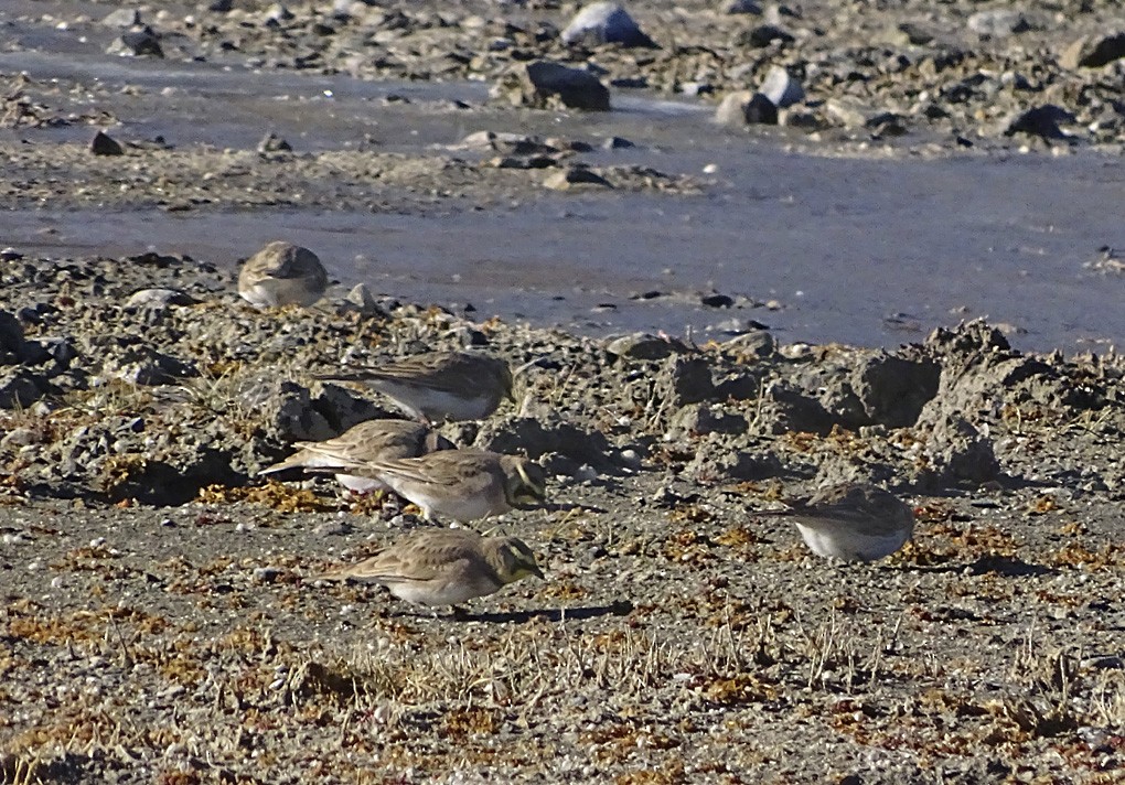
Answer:
<path fill-rule="evenodd" d="M 531 507 L 546 499 L 547 476 L 534 461 L 485 450 L 444 450 L 418 458 L 352 461 L 346 473 L 386 482 L 426 520 L 459 523 Z"/>

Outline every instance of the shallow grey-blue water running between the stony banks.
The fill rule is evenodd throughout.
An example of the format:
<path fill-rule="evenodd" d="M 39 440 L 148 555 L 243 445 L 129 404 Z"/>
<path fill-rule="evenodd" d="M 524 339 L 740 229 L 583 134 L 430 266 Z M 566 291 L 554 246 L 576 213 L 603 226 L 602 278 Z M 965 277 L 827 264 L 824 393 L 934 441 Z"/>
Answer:
<path fill-rule="evenodd" d="M 1125 246 L 1119 161 L 976 152 L 927 160 L 792 152 L 784 132 L 750 137 L 714 127 L 710 108 L 614 92 L 602 115 L 480 107 L 486 85 L 377 83 L 348 76 L 254 73 L 209 63 L 108 57 L 91 51 L 0 54 L 0 71 L 109 89 L 123 138 L 163 135 L 179 147 L 253 147 L 268 129 L 300 151 L 432 150 L 478 129 L 560 134 L 632 150 L 584 155 L 688 173 L 699 196 L 530 188 L 485 209 L 442 202 L 404 215 L 261 209 L 20 210 L 3 243 L 25 252 L 129 254 L 147 247 L 235 264 L 269 240 L 312 247 L 343 283 L 407 300 L 606 334 L 664 330 L 698 336 L 756 319 L 782 341 L 896 345 L 987 316 L 1018 328 L 1023 349 L 1125 343 L 1125 276 L 1083 267 Z M 143 88 L 119 94 L 125 84 Z M 384 105 L 389 93 L 410 103 Z M 459 99 L 472 110 L 453 109 Z M 309 118 L 315 117 L 315 121 Z M 88 138 L 88 127 L 34 133 Z M 467 153 L 457 153 L 467 155 Z M 52 233 L 45 234 L 44 228 Z M 713 309 L 716 289 L 776 309 Z M 667 296 L 631 299 L 639 292 Z"/>

